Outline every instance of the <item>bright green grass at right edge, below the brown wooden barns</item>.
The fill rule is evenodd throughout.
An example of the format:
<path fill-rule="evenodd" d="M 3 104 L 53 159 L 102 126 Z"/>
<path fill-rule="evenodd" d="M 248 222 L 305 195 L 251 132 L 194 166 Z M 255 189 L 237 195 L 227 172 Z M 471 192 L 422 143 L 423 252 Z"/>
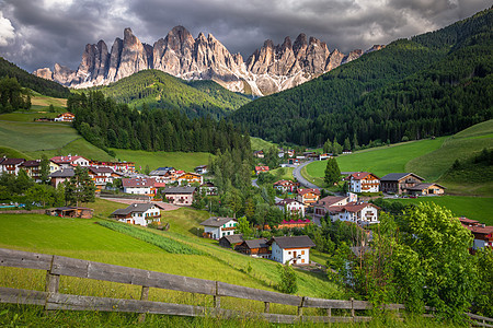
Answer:
<path fill-rule="evenodd" d="M 446 207 L 456 216 L 467 216 L 468 219 L 493 225 L 493 198 L 468 197 L 468 196 L 440 196 L 440 197 L 420 197 L 393 199 L 404 204 L 419 202 L 435 202 L 438 206 Z"/>

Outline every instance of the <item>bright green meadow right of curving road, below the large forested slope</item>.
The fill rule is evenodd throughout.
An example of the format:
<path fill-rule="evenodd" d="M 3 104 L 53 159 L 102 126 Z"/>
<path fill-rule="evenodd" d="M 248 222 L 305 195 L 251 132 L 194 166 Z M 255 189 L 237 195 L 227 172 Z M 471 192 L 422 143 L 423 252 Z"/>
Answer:
<path fill-rule="evenodd" d="M 419 140 L 390 147 L 378 147 L 341 155 L 336 160 L 341 172 L 367 171 L 381 177 L 392 172 L 405 172 L 405 164 L 409 161 L 438 149 L 445 139 L 446 137 L 442 137 L 435 140 Z M 306 166 L 306 172 L 314 178 L 323 177 L 325 166 L 326 161 L 316 161 Z M 428 178 L 427 176 L 424 177 Z"/>

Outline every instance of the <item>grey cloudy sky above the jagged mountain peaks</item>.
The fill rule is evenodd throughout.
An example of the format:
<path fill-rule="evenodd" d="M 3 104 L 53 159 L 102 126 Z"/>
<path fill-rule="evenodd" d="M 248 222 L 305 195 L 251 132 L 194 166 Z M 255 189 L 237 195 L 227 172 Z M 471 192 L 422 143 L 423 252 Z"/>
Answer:
<path fill-rule="evenodd" d="M 176 25 L 211 33 L 246 59 L 265 39 L 299 33 L 332 51 L 367 49 L 444 27 L 491 0 L 0 0 L 0 56 L 32 72 L 55 62 L 76 69 L 85 44 L 111 48 L 131 27 L 153 44 Z"/>

